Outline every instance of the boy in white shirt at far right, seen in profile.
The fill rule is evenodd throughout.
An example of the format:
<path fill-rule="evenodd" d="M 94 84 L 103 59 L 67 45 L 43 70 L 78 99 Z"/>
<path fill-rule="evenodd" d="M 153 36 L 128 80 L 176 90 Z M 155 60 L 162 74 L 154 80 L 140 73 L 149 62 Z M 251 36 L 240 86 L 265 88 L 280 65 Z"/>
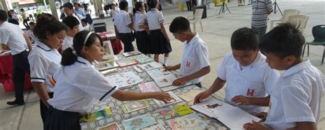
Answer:
<path fill-rule="evenodd" d="M 296 25 L 282 23 L 267 33 L 261 50 L 271 68 L 285 70 L 271 92 L 269 112 L 263 125 L 247 123 L 245 129 L 317 129 L 325 78 L 302 59 L 305 39 Z M 267 127 L 265 126 L 267 125 Z"/>

